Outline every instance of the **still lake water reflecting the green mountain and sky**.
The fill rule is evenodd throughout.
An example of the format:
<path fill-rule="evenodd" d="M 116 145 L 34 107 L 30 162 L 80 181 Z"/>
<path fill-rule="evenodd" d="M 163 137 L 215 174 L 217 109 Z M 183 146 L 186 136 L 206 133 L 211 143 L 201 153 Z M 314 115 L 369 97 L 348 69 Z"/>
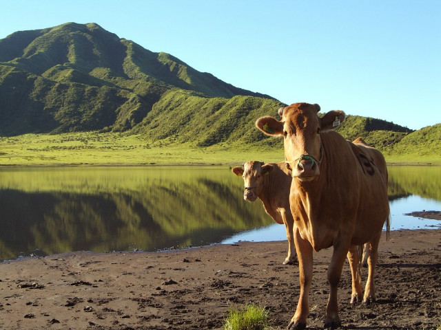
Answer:
<path fill-rule="evenodd" d="M 392 230 L 441 228 L 441 167 L 389 166 Z M 285 240 L 243 180 L 221 166 L 0 168 L 0 261 L 78 250 Z"/>

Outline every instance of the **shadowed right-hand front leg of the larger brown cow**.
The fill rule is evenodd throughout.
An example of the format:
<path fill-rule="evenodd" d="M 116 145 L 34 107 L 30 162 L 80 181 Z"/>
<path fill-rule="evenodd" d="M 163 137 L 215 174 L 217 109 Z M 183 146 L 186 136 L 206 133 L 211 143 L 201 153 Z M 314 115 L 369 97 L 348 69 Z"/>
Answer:
<path fill-rule="evenodd" d="M 331 263 L 329 263 L 327 272 L 329 282 L 329 300 L 326 307 L 325 328 L 330 327 L 331 329 L 340 327 L 341 324 L 340 318 L 338 317 L 338 283 L 340 282 L 343 263 L 345 263 L 347 252 L 349 251 L 349 246 L 351 245 L 349 241 L 344 241 L 342 236 L 340 236 L 339 239 L 336 239 L 336 242 L 338 243 L 334 243 L 334 253 L 332 254 Z"/>

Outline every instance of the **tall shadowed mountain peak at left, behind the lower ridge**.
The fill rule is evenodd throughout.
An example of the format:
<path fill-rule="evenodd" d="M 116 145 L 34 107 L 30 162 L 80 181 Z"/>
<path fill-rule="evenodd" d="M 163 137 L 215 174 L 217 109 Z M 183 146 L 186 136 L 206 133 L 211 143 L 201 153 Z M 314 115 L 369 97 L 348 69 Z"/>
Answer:
<path fill-rule="evenodd" d="M 125 131 L 172 89 L 205 98 L 269 98 L 94 23 L 15 32 L 0 40 L 0 135 Z"/>

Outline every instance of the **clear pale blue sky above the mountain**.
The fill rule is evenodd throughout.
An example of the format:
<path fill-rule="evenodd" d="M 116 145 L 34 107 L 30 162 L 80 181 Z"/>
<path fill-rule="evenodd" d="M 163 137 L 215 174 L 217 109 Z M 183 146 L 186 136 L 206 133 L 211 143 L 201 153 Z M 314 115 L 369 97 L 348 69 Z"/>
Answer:
<path fill-rule="evenodd" d="M 410 129 L 441 122 L 440 0 L 0 0 L 0 8 L 0 39 L 93 22 L 287 104 Z"/>

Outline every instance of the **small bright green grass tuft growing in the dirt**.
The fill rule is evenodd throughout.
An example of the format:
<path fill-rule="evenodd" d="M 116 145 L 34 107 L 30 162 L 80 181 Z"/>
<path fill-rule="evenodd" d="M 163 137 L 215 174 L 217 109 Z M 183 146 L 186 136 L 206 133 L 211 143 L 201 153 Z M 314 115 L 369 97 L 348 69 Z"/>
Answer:
<path fill-rule="evenodd" d="M 264 307 L 248 304 L 229 311 L 224 330 L 263 330 L 267 326 L 268 311 Z"/>

